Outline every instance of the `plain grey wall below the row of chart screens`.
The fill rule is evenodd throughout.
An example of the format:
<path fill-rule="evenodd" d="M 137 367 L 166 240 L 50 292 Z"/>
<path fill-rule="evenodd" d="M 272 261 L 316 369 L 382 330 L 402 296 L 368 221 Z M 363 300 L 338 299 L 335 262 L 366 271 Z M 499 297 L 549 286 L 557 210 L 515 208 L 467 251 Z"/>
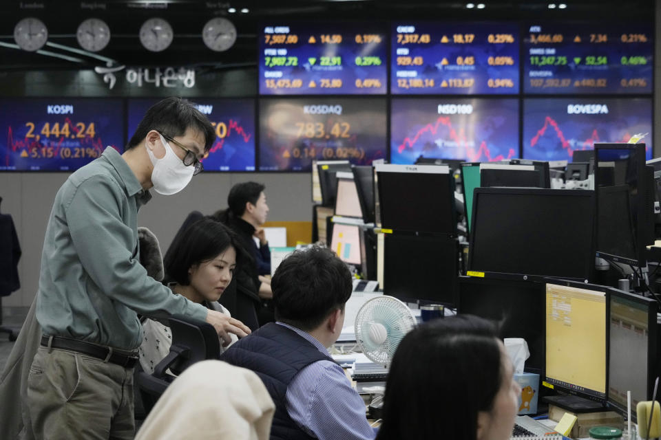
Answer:
<path fill-rule="evenodd" d="M 32 303 L 39 286 L 46 223 L 56 192 L 67 177 L 67 173 L 0 173 L 0 212 L 12 215 L 23 250 L 21 289 L 3 298 L 3 307 L 29 307 Z M 140 210 L 138 224 L 158 236 L 165 252 L 189 212 L 211 214 L 225 208 L 229 188 L 248 180 L 266 185 L 270 221 L 312 221 L 308 173 L 202 173 L 176 195 L 152 191 L 154 198 Z"/>

